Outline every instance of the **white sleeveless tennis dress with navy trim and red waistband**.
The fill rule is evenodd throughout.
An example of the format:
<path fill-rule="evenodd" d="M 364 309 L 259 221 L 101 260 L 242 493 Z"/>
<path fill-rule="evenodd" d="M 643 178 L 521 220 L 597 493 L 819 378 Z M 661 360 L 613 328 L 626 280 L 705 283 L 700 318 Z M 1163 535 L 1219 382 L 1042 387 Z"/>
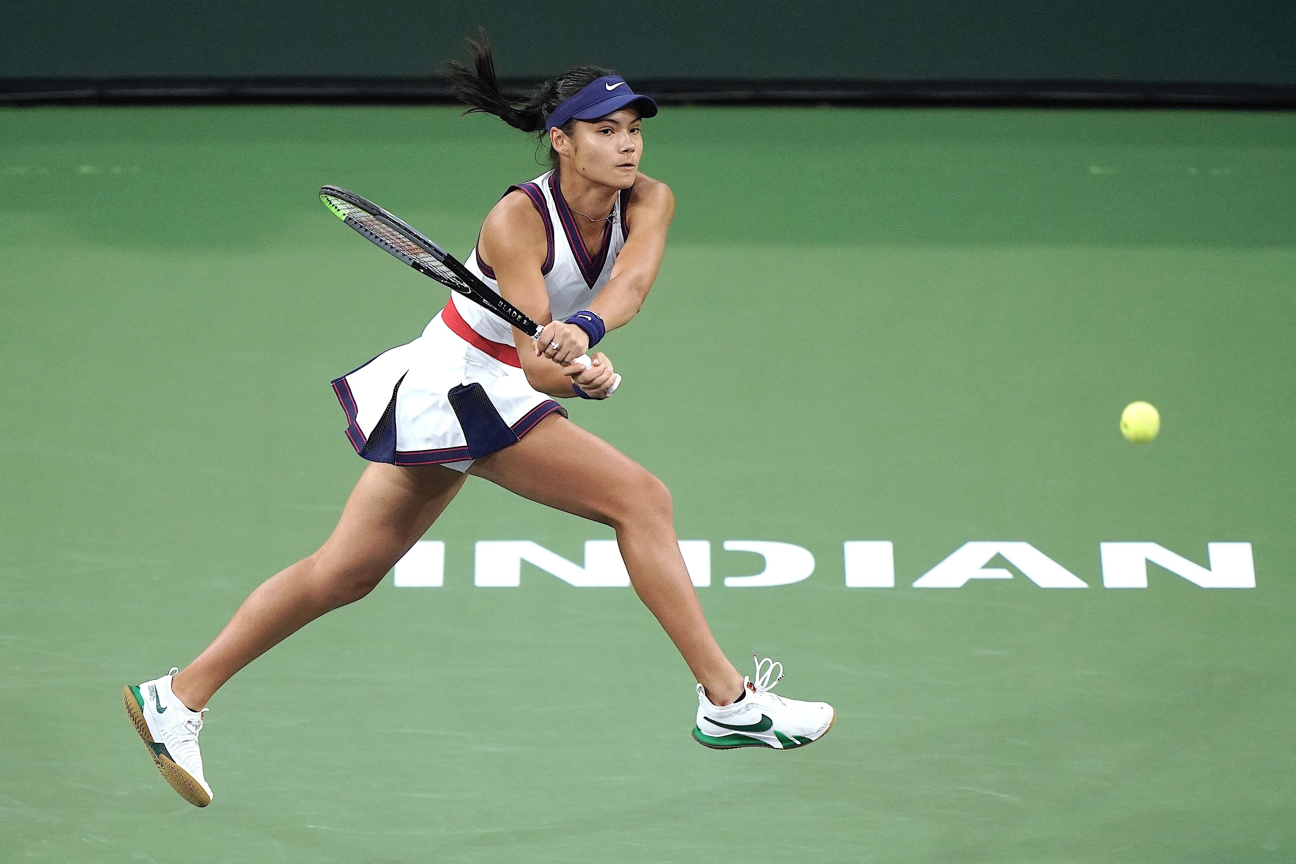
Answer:
<path fill-rule="evenodd" d="M 586 308 L 612 275 L 626 242 L 630 189 L 617 196 L 603 246 L 591 255 L 557 175 L 542 174 L 521 189 L 544 220 L 548 253 L 540 272 L 553 320 Z M 505 194 L 508 194 L 505 192 Z M 465 264 L 491 290 L 495 272 L 473 249 Z M 467 297 L 446 308 L 413 342 L 384 351 L 333 381 L 355 451 L 375 462 L 439 464 L 465 472 L 474 459 L 517 443 L 544 417 L 566 411 L 526 381 L 511 326 Z"/>

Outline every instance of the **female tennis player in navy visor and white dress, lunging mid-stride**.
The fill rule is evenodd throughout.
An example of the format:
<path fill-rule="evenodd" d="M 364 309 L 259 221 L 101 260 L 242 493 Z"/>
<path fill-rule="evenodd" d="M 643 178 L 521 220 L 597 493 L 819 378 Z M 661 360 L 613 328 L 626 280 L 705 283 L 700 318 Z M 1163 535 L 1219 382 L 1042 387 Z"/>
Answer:
<path fill-rule="evenodd" d="M 124 692 L 162 776 L 198 807 L 211 802 L 198 732 L 216 689 L 305 624 L 369 593 L 468 474 L 616 530 L 636 593 L 697 680 L 700 744 L 789 749 L 832 725 L 827 703 L 770 693 L 781 665 L 757 663 L 756 680 L 737 674 L 702 617 L 666 487 L 555 402 L 609 396 L 616 373 L 605 354 L 592 354 L 590 368 L 572 360 L 630 323 L 661 266 L 674 197 L 639 174 L 640 120 L 657 105 L 592 66 L 515 104 L 500 95 L 485 40 L 470 45 L 476 67 L 450 66 L 455 91 L 469 111 L 539 132 L 552 168 L 508 189 L 467 266 L 544 330 L 533 342 L 451 294 L 420 338 L 333 382 L 347 437 L 371 462 L 333 534 L 257 588 L 184 671 Z"/>

